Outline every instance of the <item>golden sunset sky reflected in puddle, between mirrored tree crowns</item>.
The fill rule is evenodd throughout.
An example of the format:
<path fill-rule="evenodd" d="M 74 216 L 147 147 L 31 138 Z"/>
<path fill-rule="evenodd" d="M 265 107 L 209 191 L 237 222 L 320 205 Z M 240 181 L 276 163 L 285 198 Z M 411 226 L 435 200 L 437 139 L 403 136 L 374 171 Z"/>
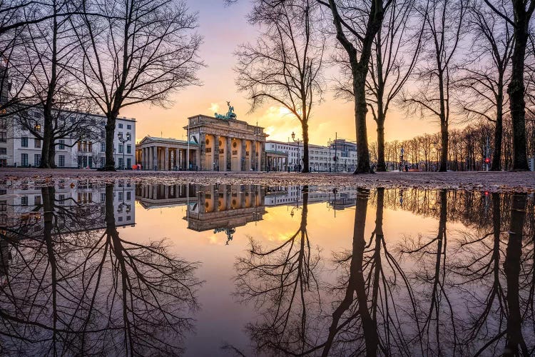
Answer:
<path fill-rule="evenodd" d="M 198 297 L 201 309 L 195 314 L 197 331 L 186 341 L 188 356 L 215 356 L 223 342 L 239 348 L 248 346 L 248 337 L 243 332 L 247 323 L 255 322 L 255 309 L 250 305 L 235 303 L 231 293 L 234 289 L 234 263 L 238 256 L 247 254 L 249 237 L 263 246 L 274 246 L 292 236 L 300 225 L 301 211 L 292 206 L 267 207 L 263 221 L 248 223 L 236 228 L 233 241 L 225 246 L 225 233 L 213 231 L 195 232 L 186 228 L 185 206 L 145 210 L 136 204 L 136 228 L 121 230 L 121 238 L 129 240 L 158 240 L 168 238 L 170 251 L 187 261 L 200 261 L 198 278 L 205 281 Z M 322 260 L 328 261 L 332 253 L 351 248 L 355 206 L 336 212 L 327 210 L 327 203 L 308 205 L 307 231 L 312 246 L 319 246 Z M 375 209 L 368 207 L 365 237 L 371 236 L 374 228 Z M 400 241 L 403 236 L 422 233 L 436 235 L 437 221 L 434 218 L 414 216 L 407 211 L 384 210 L 384 237 L 389 243 Z M 325 266 L 323 279 L 334 282 L 336 273 Z"/>

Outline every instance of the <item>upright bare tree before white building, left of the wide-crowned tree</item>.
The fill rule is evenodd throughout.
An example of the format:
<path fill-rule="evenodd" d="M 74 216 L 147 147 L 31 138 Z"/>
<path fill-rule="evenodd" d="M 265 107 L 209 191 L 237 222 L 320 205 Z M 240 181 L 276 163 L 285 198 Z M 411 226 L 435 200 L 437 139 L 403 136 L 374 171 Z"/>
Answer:
<path fill-rule="evenodd" d="M 91 128 L 83 120 L 83 114 L 75 117 L 69 115 L 72 113 L 66 113 L 88 111 L 83 88 L 66 68 L 73 65 L 78 55 L 77 41 L 70 28 L 71 15 L 68 15 L 71 7 L 71 0 L 41 3 L 41 12 L 49 19 L 31 25 L 27 31 L 24 56 L 29 66 L 19 69 L 19 72 L 29 73 L 26 86 L 31 96 L 31 106 L 41 112 L 43 121 L 42 125 L 41 120 L 39 124 L 34 124 L 26 110 L 16 111 L 14 119 L 42 140 L 39 164 L 41 168 L 55 167 L 54 156 L 58 139 L 65 139 L 66 136 L 79 138 L 82 133 L 78 131 Z M 67 123 L 61 122 L 65 120 Z M 76 144 L 76 141 L 73 144 Z"/>

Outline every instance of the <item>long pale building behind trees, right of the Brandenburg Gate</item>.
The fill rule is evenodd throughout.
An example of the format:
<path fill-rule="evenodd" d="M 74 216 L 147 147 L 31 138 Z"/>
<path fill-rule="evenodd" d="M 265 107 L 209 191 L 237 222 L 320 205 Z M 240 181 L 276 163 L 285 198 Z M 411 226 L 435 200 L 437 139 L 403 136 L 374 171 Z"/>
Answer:
<path fill-rule="evenodd" d="M 340 139 L 342 140 L 342 139 Z M 266 141 L 266 151 L 278 151 L 288 155 L 288 169 L 298 171 L 302 166 L 302 143 L 285 143 L 284 141 Z M 336 157 L 336 159 L 335 159 Z M 344 141 L 344 145 L 337 141 L 331 146 L 320 146 L 315 144 L 308 145 L 308 159 L 310 171 L 355 171 L 357 166 L 357 151 L 352 150 L 352 146 Z M 282 165 L 282 164 L 281 164 Z M 280 166 L 277 171 L 283 171 L 284 167 Z"/>

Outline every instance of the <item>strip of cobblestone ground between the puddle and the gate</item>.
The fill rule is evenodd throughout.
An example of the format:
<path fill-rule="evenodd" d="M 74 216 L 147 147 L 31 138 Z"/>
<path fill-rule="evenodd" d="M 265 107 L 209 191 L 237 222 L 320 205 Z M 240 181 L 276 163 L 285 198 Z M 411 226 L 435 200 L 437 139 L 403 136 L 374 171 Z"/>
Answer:
<path fill-rule="evenodd" d="M 535 193 L 534 172 L 386 172 L 377 174 L 298 174 L 286 172 L 165 172 L 116 171 L 100 172 L 77 169 L 0 169 L 5 185 L 19 186 L 31 183 L 44 185 L 54 178 L 111 182 L 129 179 L 136 183 L 196 183 L 196 184 L 258 184 L 264 186 L 312 185 L 322 187 L 361 186 L 399 188 L 448 188 L 477 191 L 521 191 Z M 0 184 L 2 184 L 0 182 Z"/>

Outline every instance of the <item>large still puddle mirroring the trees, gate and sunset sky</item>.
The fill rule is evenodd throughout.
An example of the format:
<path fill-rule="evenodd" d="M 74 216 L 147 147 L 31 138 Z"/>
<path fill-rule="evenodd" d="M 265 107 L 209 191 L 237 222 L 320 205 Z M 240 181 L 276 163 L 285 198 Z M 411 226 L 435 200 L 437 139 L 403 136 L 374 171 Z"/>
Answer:
<path fill-rule="evenodd" d="M 2 355 L 535 353 L 526 194 L 58 181 L 0 223 Z"/>

